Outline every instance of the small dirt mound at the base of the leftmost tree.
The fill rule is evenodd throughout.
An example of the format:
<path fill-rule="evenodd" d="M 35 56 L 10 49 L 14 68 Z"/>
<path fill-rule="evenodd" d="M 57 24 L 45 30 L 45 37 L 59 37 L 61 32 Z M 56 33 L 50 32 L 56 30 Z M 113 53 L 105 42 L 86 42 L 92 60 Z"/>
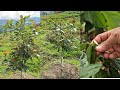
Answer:
<path fill-rule="evenodd" d="M 13 77 L 11 77 L 11 79 L 37 79 L 37 78 L 24 72 L 22 73 L 21 78 L 21 73 L 17 72 L 16 74 L 13 75 Z"/>

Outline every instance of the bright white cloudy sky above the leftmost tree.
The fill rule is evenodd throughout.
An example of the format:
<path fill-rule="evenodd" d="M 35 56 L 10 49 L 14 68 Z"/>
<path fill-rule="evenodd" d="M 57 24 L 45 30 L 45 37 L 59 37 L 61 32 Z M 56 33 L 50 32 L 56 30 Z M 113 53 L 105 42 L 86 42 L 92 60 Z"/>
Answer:
<path fill-rule="evenodd" d="M 20 15 L 40 17 L 40 11 L 0 11 L 0 19 L 19 19 Z"/>

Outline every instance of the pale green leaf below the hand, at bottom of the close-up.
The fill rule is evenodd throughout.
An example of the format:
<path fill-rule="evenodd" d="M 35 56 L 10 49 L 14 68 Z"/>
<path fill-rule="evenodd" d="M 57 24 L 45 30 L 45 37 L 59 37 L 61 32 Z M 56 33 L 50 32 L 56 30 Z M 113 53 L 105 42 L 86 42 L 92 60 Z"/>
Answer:
<path fill-rule="evenodd" d="M 80 78 L 93 77 L 100 71 L 102 64 L 89 64 L 86 67 L 80 67 Z"/>

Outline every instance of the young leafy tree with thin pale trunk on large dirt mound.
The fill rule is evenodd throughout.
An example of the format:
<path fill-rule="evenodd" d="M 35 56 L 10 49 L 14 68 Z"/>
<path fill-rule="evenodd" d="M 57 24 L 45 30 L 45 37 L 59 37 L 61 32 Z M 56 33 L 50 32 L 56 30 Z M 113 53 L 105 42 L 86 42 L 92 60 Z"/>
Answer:
<path fill-rule="evenodd" d="M 64 53 L 69 52 L 73 48 L 77 48 L 74 42 L 76 41 L 75 32 L 77 27 L 75 27 L 70 21 L 65 21 L 63 19 L 54 18 L 51 20 L 51 33 L 47 35 L 47 41 L 53 44 L 61 56 L 61 75 L 62 75 L 62 63 L 64 58 Z"/>

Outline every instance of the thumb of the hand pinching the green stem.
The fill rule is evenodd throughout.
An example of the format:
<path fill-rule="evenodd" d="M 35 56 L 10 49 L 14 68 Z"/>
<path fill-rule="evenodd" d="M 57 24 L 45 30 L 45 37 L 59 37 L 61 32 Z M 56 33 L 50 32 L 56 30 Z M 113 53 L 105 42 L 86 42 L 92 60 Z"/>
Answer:
<path fill-rule="evenodd" d="M 99 46 L 96 47 L 98 52 L 105 52 L 110 49 L 116 43 L 115 38 L 111 35 L 106 41 L 102 42 Z"/>

